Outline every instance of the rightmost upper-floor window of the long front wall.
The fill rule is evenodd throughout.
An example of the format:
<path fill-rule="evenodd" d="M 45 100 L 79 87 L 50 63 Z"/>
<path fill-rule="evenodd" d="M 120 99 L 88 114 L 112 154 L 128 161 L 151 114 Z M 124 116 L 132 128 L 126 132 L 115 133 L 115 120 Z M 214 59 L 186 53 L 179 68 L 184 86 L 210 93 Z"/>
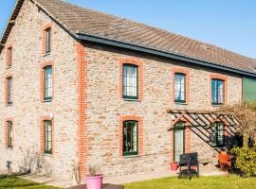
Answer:
<path fill-rule="evenodd" d="M 211 100 L 212 104 L 224 104 L 224 81 L 213 78 L 211 80 Z"/>

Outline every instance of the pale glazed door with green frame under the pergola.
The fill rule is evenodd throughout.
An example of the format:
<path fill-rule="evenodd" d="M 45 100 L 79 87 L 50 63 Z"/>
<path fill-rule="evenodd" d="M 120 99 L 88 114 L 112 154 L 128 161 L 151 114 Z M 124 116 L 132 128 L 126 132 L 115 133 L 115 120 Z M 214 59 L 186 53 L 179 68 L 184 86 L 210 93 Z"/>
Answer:
<path fill-rule="evenodd" d="M 185 151 L 184 124 L 174 129 L 174 162 L 179 162 L 179 155 Z"/>

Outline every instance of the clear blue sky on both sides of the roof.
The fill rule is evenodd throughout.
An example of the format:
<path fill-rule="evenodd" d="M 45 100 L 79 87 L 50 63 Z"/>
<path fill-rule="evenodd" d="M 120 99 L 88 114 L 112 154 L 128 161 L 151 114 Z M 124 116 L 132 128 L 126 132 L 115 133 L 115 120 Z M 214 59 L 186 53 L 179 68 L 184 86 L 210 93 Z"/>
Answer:
<path fill-rule="evenodd" d="M 66 0 L 256 58 L 255 0 Z M 2 34 L 15 0 L 1 0 Z"/>

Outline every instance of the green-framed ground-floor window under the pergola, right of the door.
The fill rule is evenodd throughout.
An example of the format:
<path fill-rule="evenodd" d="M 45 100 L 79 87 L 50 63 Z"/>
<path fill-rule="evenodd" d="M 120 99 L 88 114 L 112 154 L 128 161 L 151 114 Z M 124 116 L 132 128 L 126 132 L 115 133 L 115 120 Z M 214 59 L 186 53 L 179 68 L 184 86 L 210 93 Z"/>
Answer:
<path fill-rule="evenodd" d="M 222 147 L 225 145 L 224 131 L 224 124 L 222 122 L 216 122 L 211 126 L 212 146 Z"/>

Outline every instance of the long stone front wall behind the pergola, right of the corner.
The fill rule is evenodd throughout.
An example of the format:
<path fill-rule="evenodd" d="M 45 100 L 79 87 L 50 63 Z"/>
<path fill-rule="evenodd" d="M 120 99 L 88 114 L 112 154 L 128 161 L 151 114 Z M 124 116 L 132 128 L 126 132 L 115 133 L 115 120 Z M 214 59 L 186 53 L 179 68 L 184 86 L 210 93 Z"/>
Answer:
<path fill-rule="evenodd" d="M 198 67 L 186 62 L 157 59 L 137 53 L 85 43 L 87 58 L 87 164 L 99 163 L 105 175 L 127 175 L 167 170 L 173 161 L 173 131 L 167 131 L 171 115 L 167 110 L 215 110 L 211 105 L 212 75 L 227 73 Z M 120 61 L 141 62 L 143 96 L 126 101 L 119 94 Z M 189 103 L 174 103 L 174 70 L 189 73 Z M 241 77 L 228 76 L 228 104 L 242 100 Z M 141 81 L 139 81 L 140 83 Z M 140 97 L 139 97 L 140 98 Z M 119 119 L 122 116 L 143 119 L 143 154 L 122 157 L 119 153 Z M 199 133 L 200 134 L 200 133 Z M 186 149 L 198 151 L 199 157 L 214 157 L 215 151 L 192 130 L 186 131 L 191 144 Z M 172 140 L 171 140 L 172 139 Z"/>

